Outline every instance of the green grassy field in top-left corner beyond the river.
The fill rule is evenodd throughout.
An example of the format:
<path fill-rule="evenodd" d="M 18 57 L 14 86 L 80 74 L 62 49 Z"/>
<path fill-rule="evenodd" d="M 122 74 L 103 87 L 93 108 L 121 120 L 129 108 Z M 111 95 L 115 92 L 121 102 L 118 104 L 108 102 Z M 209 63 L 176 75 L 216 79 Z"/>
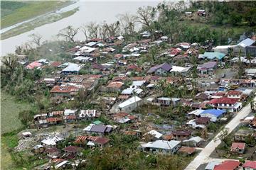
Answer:
<path fill-rule="evenodd" d="M 1 28 L 55 11 L 71 1 L 1 1 Z"/>

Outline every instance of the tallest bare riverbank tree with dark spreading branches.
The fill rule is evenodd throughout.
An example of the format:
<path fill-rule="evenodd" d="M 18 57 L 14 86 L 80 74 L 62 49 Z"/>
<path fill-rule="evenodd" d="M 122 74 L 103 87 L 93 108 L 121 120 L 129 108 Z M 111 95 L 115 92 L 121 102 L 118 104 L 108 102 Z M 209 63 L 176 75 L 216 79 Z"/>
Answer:
<path fill-rule="evenodd" d="M 156 9 L 151 6 L 139 7 L 137 15 L 139 23 L 149 27 L 151 21 L 153 21 L 156 16 Z"/>

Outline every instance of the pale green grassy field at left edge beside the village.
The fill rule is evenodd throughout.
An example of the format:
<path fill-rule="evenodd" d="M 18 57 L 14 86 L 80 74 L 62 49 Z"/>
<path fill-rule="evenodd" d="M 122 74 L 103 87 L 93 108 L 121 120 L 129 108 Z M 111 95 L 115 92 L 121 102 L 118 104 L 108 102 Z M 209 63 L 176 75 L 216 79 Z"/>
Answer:
<path fill-rule="evenodd" d="M 18 113 L 31 108 L 28 103 L 18 103 L 13 96 L 1 91 L 1 134 L 22 128 Z"/>

